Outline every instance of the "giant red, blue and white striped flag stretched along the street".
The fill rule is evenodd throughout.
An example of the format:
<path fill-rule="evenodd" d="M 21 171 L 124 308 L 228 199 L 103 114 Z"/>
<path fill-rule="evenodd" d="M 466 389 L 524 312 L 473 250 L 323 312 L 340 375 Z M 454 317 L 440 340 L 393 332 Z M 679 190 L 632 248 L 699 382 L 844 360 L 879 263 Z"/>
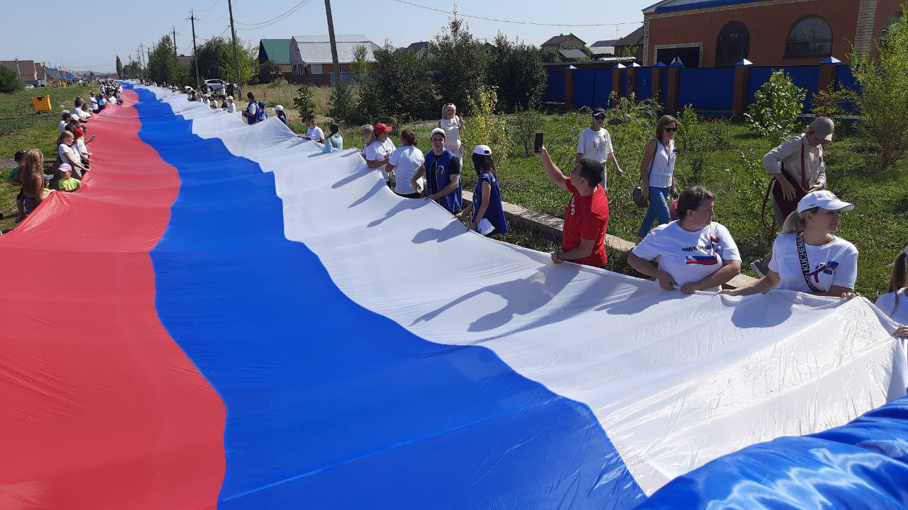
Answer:
<path fill-rule="evenodd" d="M 0 509 L 908 505 L 867 300 L 554 266 L 127 88 L 83 188 L 0 237 Z"/>

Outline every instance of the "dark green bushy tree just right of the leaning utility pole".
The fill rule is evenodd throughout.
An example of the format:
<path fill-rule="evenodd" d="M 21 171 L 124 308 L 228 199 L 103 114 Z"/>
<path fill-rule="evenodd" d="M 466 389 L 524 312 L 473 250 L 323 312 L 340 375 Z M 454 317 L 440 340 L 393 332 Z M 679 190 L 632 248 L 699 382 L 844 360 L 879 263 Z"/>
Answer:
<path fill-rule="evenodd" d="M 375 68 L 360 84 L 360 101 L 350 122 L 432 118 L 439 113 L 430 83 L 425 59 L 410 52 L 395 53 L 387 44 L 375 51 Z"/>

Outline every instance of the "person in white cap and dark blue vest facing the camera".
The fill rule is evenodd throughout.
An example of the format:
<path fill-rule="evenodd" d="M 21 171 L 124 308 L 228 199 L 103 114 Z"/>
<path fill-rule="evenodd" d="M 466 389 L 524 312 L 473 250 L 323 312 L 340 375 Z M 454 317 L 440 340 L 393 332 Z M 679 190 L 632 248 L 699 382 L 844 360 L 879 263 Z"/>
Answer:
<path fill-rule="evenodd" d="M 460 196 L 460 160 L 445 149 L 445 130 L 433 129 L 429 142 L 432 143 L 432 150 L 426 153 L 423 168 L 416 171 L 411 182 L 416 189 L 416 182 L 425 173 L 425 190 L 429 193 L 429 198 L 439 202 L 451 214 L 457 214 L 463 207 Z"/>

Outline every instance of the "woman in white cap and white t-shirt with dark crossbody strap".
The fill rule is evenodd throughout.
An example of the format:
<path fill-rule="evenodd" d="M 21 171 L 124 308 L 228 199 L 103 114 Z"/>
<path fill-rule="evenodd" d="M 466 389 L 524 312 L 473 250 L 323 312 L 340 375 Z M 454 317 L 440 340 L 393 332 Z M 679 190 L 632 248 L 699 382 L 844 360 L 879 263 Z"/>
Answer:
<path fill-rule="evenodd" d="M 817 296 L 852 299 L 857 280 L 857 249 L 833 235 L 841 221 L 839 211 L 854 204 L 840 201 L 832 191 L 811 191 L 788 215 L 773 243 L 766 276 L 750 285 L 723 290 L 729 296 L 748 296 L 771 289 L 798 290 Z"/>

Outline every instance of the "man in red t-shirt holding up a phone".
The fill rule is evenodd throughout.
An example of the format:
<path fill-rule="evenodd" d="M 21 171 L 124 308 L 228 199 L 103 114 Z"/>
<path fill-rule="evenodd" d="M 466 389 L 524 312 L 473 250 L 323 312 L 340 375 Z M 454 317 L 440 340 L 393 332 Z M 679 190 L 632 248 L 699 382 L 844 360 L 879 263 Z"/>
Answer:
<path fill-rule="evenodd" d="M 605 267 L 608 199 L 606 191 L 599 185 L 606 172 L 605 167 L 596 160 L 582 158 L 570 172 L 570 177 L 565 177 L 552 162 L 545 147 L 536 155 L 546 169 L 548 180 L 574 195 L 565 211 L 561 250 L 552 252 L 552 261 L 558 264 L 562 260 L 570 260 L 587 266 Z"/>

